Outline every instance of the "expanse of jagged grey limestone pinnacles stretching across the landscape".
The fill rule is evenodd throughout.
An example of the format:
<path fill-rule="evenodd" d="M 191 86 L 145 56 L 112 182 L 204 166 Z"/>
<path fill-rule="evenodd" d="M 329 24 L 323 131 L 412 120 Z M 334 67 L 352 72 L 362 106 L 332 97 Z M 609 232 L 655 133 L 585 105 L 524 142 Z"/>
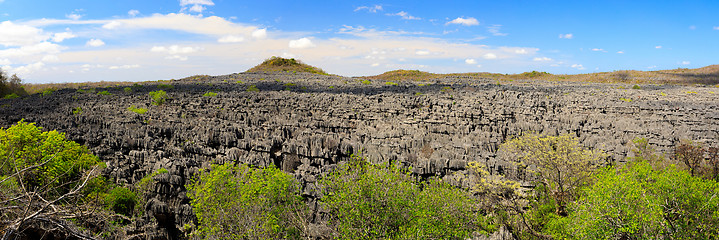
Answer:
<path fill-rule="evenodd" d="M 176 238 L 193 221 L 185 184 L 213 162 L 276 165 L 313 199 L 318 177 L 360 152 L 463 185 L 454 176 L 468 161 L 531 180 L 513 176 L 513 165 L 495 157 L 503 142 L 524 132 L 576 135 L 611 162 L 623 161 L 637 137 L 665 152 L 680 139 L 719 144 L 713 86 L 500 80 L 447 75 L 387 82 L 274 71 L 61 89 L 0 100 L 0 127 L 25 119 L 65 132 L 105 161 L 106 176 L 118 184 L 167 169 L 155 178 L 144 222 L 128 233 L 152 239 Z M 169 98 L 153 105 L 148 93 L 160 89 Z M 322 209 L 314 212 L 320 223 Z"/>

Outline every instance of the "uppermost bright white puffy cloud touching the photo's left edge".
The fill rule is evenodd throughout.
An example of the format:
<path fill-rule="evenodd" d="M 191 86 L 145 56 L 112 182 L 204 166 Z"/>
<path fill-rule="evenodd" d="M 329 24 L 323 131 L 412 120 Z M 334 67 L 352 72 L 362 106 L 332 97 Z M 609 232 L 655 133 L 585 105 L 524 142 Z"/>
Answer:
<path fill-rule="evenodd" d="M 0 45 L 5 47 L 36 44 L 45 41 L 48 37 L 39 28 L 18 25 L 10 21 L 0 23 Z"/>

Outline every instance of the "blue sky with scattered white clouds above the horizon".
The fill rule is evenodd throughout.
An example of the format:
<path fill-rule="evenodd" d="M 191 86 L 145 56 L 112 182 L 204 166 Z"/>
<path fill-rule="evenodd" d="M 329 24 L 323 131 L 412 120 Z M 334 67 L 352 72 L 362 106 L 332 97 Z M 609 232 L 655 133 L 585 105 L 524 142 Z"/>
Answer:
<path fill-rule="evenodd" d="M 699 68 L 719 1 L 0 0 L 0 67 L 27 83 L 243 72 L 271 56 L 332 74 Z"/>

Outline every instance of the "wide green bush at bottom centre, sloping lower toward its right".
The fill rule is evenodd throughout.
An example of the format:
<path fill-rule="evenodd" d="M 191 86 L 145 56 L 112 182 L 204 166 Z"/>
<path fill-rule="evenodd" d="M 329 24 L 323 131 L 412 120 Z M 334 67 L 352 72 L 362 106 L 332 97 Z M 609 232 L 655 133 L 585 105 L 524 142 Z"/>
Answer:
<path fill-rule="evenodd" d="M 468 192 L 354 157 L 323 178 L 337 239 L 452 239 L 493 231 Z"/>

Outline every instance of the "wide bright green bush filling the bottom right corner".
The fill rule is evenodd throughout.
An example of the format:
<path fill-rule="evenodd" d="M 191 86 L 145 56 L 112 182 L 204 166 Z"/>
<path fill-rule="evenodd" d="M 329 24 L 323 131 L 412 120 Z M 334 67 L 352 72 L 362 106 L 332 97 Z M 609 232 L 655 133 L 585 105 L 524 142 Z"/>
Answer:
<path fill-rule="evenodd" d="M 577 239 L 717 239 L 719 184 L 648 162 L 608 168 L 568 217 Z"/>

